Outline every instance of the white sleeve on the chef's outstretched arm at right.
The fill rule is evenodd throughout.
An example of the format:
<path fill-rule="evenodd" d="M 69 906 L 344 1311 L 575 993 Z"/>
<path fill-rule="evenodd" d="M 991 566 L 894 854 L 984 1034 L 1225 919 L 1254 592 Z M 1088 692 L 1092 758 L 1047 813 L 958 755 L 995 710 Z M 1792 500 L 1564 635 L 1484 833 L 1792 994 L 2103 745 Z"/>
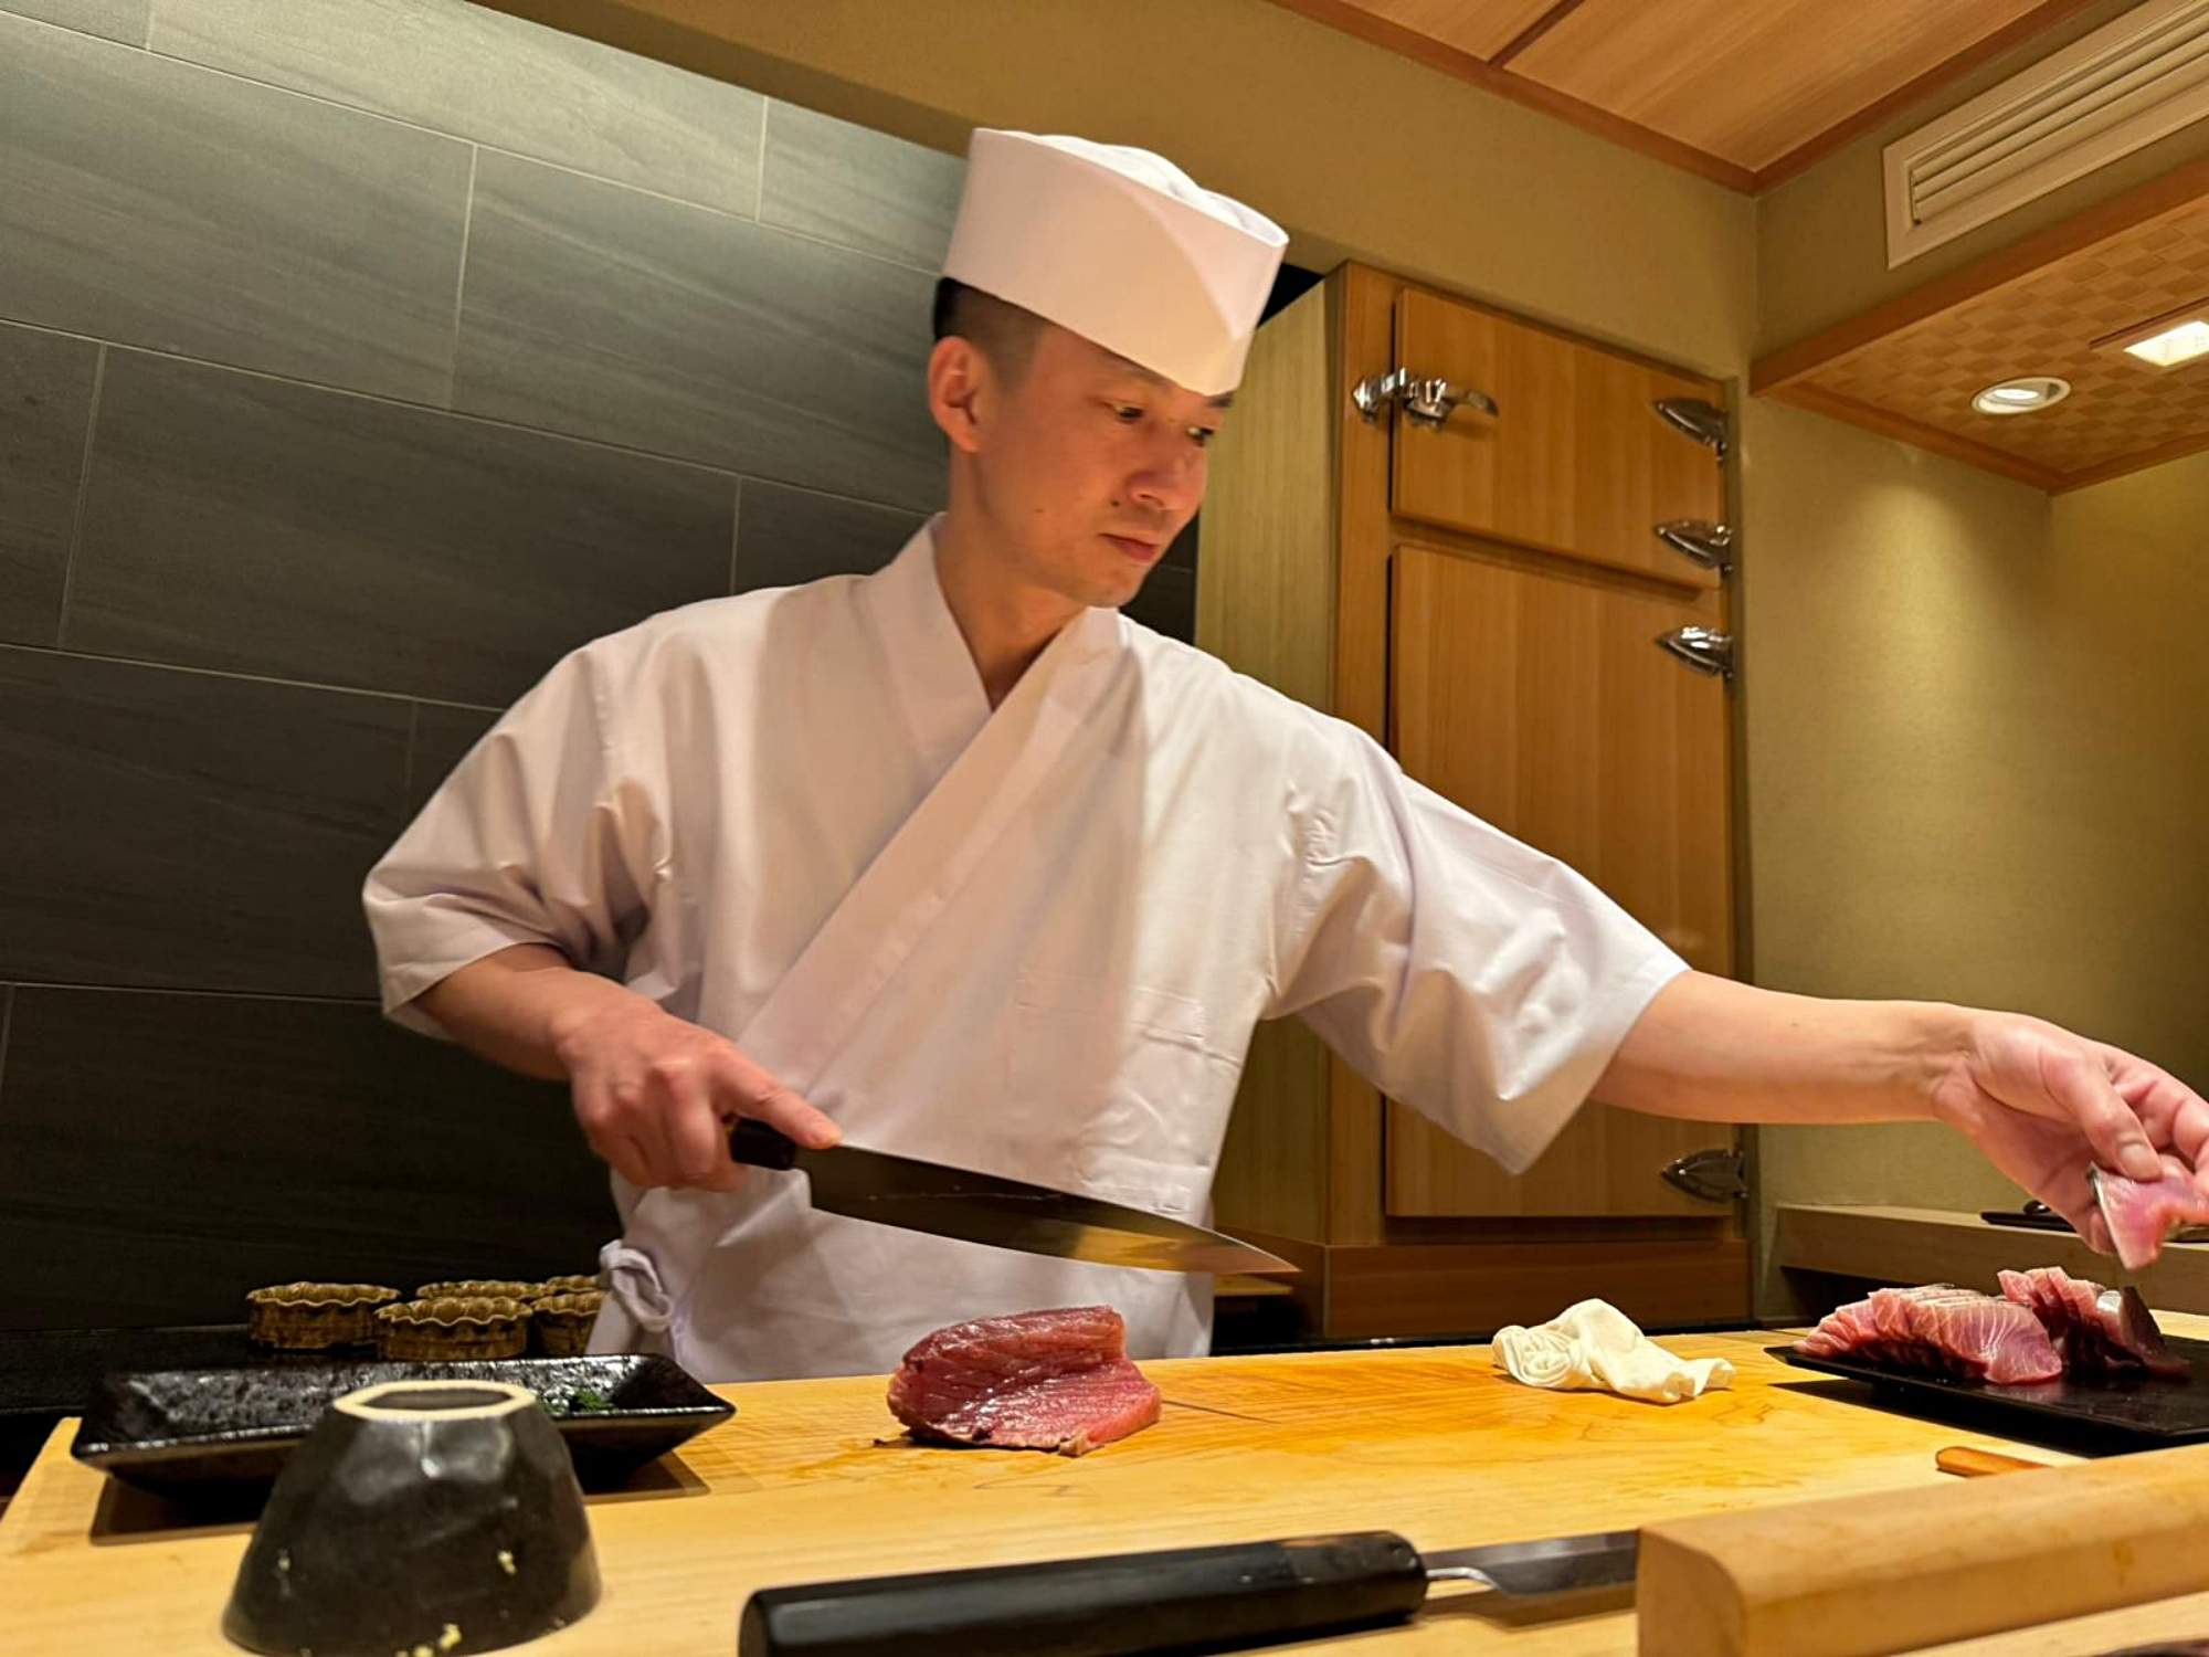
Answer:
<path fill-rule="evenodd" d="M 1356 727 L 1310 736 L 1268 1016 L 1301 1014 L 1383 1094 L 1522 1173 L 1688 963 Z"/>

